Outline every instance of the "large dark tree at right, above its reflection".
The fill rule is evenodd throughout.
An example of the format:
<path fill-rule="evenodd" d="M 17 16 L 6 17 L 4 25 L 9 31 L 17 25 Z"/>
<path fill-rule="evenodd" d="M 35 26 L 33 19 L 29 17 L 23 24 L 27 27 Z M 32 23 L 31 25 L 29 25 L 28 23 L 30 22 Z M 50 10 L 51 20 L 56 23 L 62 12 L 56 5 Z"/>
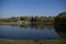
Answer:
<path fill-rule="evenodd" d="M 66 24 L 66 12 L 59 13 L 56 18 L 55 18 L 55 24 L 56 25 L 65 25 Z"/>

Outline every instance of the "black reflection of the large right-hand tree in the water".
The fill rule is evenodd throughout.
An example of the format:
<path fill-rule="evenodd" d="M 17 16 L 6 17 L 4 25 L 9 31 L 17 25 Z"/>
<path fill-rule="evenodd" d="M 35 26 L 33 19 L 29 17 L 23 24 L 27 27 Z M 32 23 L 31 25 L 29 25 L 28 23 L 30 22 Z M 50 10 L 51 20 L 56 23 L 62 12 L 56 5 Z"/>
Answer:
<path fill-rule="evenodd" d="M 62 38 L 66 38 L 66 25 L 55 25 L 54 28 L 57 34 L 62 36 Z"/>

